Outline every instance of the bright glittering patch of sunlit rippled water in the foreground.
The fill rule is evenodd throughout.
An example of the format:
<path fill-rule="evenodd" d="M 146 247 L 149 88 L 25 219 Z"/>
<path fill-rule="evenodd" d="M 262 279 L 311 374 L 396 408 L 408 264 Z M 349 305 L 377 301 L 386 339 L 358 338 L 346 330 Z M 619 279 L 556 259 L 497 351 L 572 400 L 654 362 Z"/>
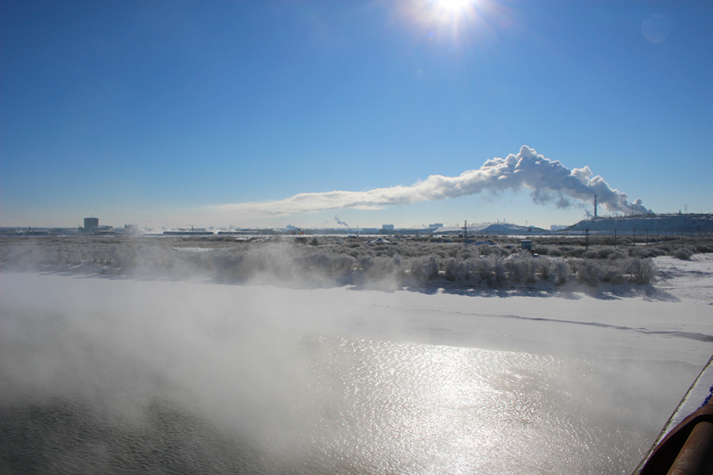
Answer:
<path fill-rule="evenodd" d="M 358 472 L 621 473 L 639 456 L 619 410 L 590 407 L 567 380 L 605 382 L 585 362 L 367 340 L 309 348 L 316 393 L 328 395 L 315 446 Z"/>

